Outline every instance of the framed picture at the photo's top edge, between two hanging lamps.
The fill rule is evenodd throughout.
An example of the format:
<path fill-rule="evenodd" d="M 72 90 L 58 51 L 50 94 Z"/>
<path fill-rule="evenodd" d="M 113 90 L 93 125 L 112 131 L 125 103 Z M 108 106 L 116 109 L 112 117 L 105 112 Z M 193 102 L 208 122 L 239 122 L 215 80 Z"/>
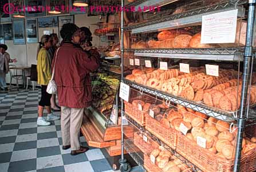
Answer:
<path fill-rule="evenodd" d="M 40 17 L 45 15 L 45 0 L 25 0 L 25 6 L 26 17 Z M 37 9 L 33 7 L 37 7 Z"/>

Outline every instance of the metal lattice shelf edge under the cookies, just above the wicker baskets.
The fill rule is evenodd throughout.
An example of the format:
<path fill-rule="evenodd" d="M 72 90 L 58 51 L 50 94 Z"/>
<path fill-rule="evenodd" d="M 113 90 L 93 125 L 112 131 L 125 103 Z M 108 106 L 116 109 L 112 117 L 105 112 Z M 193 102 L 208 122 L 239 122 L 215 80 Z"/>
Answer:
<path fill-rule="evenodd" d="M 166 101 L 170 101 L 172 103 L 182 105 L 183 107 L 190 108 L 198 112 L 204 113 L 207 116 L 218 118 L 219 120 L 226 121 L 226 122 L 233 122 L 234 120 L 237 120 L 237 118 L 235 117 L 236 113 L 227 113 L 222 110 L 215 109 L 213 107 L 207 107 L 206 105 L 203 105 L 203 104 L 197 104 L 193 101 L 188 101 L 180 97 L 168 95 L 167 93 L 153 90 L 152 88 L 148 88 L 148 87 L 145 87 L 144 85 L 133 83 L 132 81 L 129 81 L 126 79 L 124 79 L 123 82 L 125 84 L 130 85 L 133 88 L 139 89 L 140 92 L 148 93 L 153 96 L 160 97 L 162 99 L 165 99 Z"/>

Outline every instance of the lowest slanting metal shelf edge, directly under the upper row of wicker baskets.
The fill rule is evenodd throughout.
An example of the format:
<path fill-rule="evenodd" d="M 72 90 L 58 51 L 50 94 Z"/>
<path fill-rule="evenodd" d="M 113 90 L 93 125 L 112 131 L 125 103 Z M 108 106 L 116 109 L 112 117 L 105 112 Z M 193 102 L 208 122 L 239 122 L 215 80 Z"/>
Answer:
<path fill-rule="evenodd" d="M 164 144 L 164 142 L 162 142 L 161 140 L 159 140 L 159 138 L 157 138 L 155 135 L 153 135 L 152 133 L 150 133 L 148 130 L 146 130 L 143 126 L 139 125 L 135 120 L 133 120 L 132 118 L 130 118 L 127 114 L 125 114 L 125 117 L 127 118 L 127 120 L 133 124 L 137 129 L 139 129 L 141 132 L 146 133 L 147 137 L 151 138 L 151 140 L 156 141 L 159 145 L 164 146 L 164 148 L 166 148 L 168 151 L 170 151 L 172 154 L 175 155 L 175 157 L 177 157 L 178 159 L 180 159 L 180 161 L 182 161 L 183 163 L 185 163 L 188 167 L 190 167 L 191 170 L 193 170 L 194 172 L 199 172 L 202 171 L 200 170 L 198 167 L 196 167 L 195 165 L 193 165 L 190 161 L 188 161 L 186 158 L 182 157 L 182 155 L 178 154 L 174 149 L 170 148 L 170 146 Z"/>

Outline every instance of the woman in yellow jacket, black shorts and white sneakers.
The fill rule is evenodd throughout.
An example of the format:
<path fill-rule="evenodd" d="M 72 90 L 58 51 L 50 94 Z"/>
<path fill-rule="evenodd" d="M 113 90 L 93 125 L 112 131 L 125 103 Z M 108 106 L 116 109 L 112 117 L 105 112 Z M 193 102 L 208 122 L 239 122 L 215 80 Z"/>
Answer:
<path fill-rule="evenodd" d="M 52 77 L 52 62 L 50 60 L 49 48 L 52 46 L 52 40 L 49 35 L 43 35 L 37 53 L 37 82 L 41 85 L 41 100 L 38 104 L 37 125 L 50 125 L 49 121 L 60 120 L 60 116 L 54 116 L 50 108 L 50 95 L 46 92 L 47 85 Z M 46 108 L 48 116 L 47 120 L 42 117 Z"/>

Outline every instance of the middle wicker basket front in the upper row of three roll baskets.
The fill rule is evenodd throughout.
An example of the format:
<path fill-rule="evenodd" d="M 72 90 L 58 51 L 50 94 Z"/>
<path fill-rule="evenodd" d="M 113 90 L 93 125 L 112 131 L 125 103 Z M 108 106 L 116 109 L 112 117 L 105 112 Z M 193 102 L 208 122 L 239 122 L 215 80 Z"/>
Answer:
<path fill-rule="evenodd" d="M 159 121 L 155 120 L 149 116 L 149 114 L 145 114 L 145 128 L 162 140 L 165 144 L 170 146 L 172 149 L 176 148 L 176 138 L 177 138 L 177 131 L 175 129 L 166 129 L 163 128 L 163 125 L 160 124 Z"/>

